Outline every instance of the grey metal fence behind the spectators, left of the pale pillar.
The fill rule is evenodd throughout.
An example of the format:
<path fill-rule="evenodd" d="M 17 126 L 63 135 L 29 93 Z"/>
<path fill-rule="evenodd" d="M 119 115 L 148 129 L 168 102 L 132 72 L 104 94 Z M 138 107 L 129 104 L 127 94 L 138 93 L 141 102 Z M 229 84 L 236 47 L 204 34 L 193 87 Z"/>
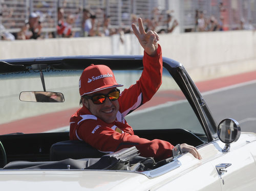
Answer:
<path fill-rule="evenodd" d="M 159 0 L 160 2 L 162 0 Z M 11 33 L 18 32 L 28 21 L 31 12 L 40 16 L 43 32 L 55 32 L 57 8 L 65 10 L 65 18 L 72 14 L 76 21 L 74 31 L 82 32 L 83 9 L 94 12 L 102 23 L 104 16 L 111 17 L 111 28 L 130 28 L 132 17 L 152 18 L 158 1 L 153 0 L 0 0 L 0 24 Z M 165 6 L 162 6 L 167 9 Z M 161 10 L 160 14 L 164 14 Z"/>

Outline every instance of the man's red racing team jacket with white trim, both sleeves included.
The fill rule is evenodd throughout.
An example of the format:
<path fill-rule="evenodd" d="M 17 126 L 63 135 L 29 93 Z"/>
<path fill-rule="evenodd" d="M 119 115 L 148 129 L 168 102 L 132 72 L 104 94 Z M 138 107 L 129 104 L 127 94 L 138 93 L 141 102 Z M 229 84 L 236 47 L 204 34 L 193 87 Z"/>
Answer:
<path fill-rule="evenodd" d="M 70 119 L 70 140 L 84 140 L 103 152 L 118 151 L 136 146 L 140 155 L 162 160 L 172 156 L 174 146 L 167 141 L 147 140 L 134 135 L 124 117 L 149 101 L 162 83 L 162 51 L 158 45 L 157 55 L 151 57 L 144 52 L 143 72 L 136 84 L 124 89 L 118 99 L 119 111 L 116 121 L 108 124 L 81 107 Z"/>

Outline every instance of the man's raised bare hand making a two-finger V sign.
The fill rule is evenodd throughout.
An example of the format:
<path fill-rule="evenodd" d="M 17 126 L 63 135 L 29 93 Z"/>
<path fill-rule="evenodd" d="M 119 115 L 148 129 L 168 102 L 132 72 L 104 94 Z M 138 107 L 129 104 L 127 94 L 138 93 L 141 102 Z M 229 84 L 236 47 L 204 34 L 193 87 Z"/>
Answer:
<path fill-rule="evenodd" d="M 138 38 L 145 52 L 150 56 L 155 56 L 158 47 L 157 41 L 159 40 L 158 34 L 155 31 L 145 32 L 141 18 L 138 18 L 138 23 L 139 30 L 134 23 L 132 24 L 135 36 Z"/>

